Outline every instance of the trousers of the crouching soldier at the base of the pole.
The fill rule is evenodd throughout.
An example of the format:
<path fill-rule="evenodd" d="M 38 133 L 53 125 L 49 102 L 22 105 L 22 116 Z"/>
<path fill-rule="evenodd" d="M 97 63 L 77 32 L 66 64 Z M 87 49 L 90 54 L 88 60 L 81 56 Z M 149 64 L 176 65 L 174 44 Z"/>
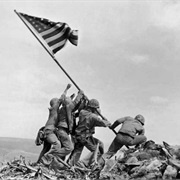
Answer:
<path fill-rule="evenodd" d="M 122 133 L 118 133 L 116 135 L 116 137 L 114 138 L 113 142 L 111 143 L 108 151 L 103 154 L 103 157 L 106 159 L 111 158 L 114 154 L 116 154 L 116 152 L 121 149 L 121 147 L 123 145 L 126 146 L 134 146 L 134 145 L 138 145 L 138 144 L 142 144 L 143 142 L 145 142 L 147 140 L 146 136 L 144 135 L 137 135 L 134 138 L 126 135 L 126 134 L 122 134 Z"/>

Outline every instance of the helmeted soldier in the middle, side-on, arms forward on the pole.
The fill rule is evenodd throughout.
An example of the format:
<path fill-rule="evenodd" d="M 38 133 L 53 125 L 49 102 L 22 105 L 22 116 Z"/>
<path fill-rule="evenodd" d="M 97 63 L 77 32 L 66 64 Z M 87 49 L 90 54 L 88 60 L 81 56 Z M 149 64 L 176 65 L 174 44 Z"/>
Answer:
<path fill-rule="evenodd" d="M 74 150 L 68 159 L 68 163 L 71 166 L 79 161 L 84 146 L 91 152 L 94 152 L 99 143 L 99 153 L 100 155 L 104 153 L 103 143 L 93 137 L 93 134 L 95 133 L 95 127 L 108 127 L 111 124 L 109 121 L 99 118 L 97 111 L 100 111 L 100 109 L 99 102 L 96 99 L 91 99 L 87 107 L 80 111 L 79 122 L 75 130 L 76 142 Z"/>

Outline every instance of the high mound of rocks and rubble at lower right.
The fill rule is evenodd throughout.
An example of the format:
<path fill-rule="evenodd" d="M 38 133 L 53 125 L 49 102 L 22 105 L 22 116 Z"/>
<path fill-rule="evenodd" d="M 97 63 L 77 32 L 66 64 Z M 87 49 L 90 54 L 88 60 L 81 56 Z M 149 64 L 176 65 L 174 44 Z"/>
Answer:
<path fill-rule="evenodd" d="M 141 148 L 124 151 L 124 156 L 112 164 L 106 162 L 100 179 L 180 179 L 179 149 L 163 142 L 147 141 Z M 113 168 L 112 168 L 113 167 Z"/>

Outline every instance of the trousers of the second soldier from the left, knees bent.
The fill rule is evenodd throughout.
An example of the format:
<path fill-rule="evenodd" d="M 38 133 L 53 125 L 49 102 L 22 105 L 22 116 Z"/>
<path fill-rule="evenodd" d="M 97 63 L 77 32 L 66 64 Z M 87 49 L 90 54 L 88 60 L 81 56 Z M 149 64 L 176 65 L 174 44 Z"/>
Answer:
<path fill-rule="evenodd" d="M 54 156 L 58 160 L 59 158 L 65 159 L 73 150 L 72 141 L 65 128 L 59 128 L 56 132 L 59 139 L 59 143 L 54 143 L 51 150 L 48 152 L 48 156 Z"/>

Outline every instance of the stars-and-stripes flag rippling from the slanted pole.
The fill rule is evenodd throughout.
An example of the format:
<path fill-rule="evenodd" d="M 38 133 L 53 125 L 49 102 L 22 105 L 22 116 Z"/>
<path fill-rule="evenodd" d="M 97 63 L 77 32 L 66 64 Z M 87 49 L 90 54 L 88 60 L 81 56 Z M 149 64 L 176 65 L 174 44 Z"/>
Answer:
<path fill-rule="evenodd" d="M 28 22 L 50 47 L 53 54 L 62 49 L 67 40 L 73 45 L 78 44 L 78 31 L 71 30 L 66 23 L 52 22 L 45 18 L 18 13 L 25 22 Z"/>

